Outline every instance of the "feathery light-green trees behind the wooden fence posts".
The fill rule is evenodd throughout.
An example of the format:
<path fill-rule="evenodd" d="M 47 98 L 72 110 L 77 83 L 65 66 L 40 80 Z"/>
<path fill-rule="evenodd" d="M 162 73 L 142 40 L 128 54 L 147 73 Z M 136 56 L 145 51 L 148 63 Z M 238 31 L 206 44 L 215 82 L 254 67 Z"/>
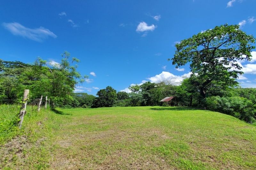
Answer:
<path fill-rule="evenodd" d="M 14 103 L 21 101 L 24 89 L 29 89 L 30 101 L 48 96 L 55 106 L 78 106 L 73 95 L 75 85 L 83 82 L 76 71 L 79 60 L 65 51 L 61 63 L 47 63 L 37 58 L 33 64 L 20 61 L 2 61 L 0 64 L 0 101 Z M 85 103 L 86 104 L 86 103 Z"/>

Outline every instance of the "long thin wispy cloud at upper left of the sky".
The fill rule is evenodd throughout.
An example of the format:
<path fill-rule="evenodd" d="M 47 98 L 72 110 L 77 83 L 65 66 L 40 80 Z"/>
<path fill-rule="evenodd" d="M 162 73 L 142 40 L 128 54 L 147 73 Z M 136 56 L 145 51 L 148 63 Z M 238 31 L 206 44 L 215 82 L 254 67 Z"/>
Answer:
<path fill-rule="evenodd" d="M 38 42 L 41 42 L 48 37 L 57 38 L 57 35 L 42 26 L 39 28 L 27 28 L 17 22 L 3 23 L 2 25 L 13 35 L 19 35 Z"/>

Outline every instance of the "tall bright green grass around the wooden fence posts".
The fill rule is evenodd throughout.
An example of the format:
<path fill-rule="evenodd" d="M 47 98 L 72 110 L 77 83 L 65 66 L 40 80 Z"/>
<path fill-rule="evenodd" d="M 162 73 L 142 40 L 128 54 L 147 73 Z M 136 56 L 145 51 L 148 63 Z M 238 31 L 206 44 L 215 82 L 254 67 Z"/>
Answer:
<path fill-rule="evenodd" d="M 37 112 L 37 108 L 33 106 L 27 106 L 27 113 L 24 117 L 24 121 L 21 129 L 18 129 L 17 122 L 19 118 L 20 105 L 0 105 L 0 145 L 11 140 L 17 135 L 28 135 L 33 131 L 36 126 L 36 122 L 40 122 L 44 119 L 45 110 L 41 109 L 41 112 Z"/>

